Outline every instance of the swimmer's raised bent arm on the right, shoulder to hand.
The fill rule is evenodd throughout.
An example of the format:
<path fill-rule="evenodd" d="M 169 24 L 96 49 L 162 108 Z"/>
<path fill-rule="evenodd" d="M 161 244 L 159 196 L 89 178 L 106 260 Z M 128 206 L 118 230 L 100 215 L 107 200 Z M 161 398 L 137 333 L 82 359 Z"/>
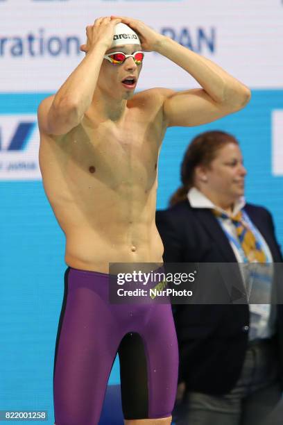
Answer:
<path fill-rule="evenodd" d="M 137 19 L 121 17 L 139 35 L 141 47 L 157 51 L 179 65 L 202 87 L 174 92 L 162 90 L 168 126 L 198 126 L 240 110 L 250 100 L 250 90 L 211 60 L 158 34 Z"/>

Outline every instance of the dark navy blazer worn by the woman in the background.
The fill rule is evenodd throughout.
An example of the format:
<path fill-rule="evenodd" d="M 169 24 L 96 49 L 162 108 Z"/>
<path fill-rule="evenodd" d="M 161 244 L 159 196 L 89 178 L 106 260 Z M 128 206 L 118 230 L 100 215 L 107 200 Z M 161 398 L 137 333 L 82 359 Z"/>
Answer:
<path fill-rule="evenodd" d="M 250 204 L 244 210 L 266 240 L 273 261 L 282 262 L 271 214 Z M 191 208 L 189 201 L 181 201 L 157 211 L 156 224 L 164 244 L 164 263 L 237 263 L 227 236 L 208 208 Z M 283 306 L 275 308 L 283 388 Z M 225 394 L 232 390 L 248 343 L 248 305 L 235 305 L 231 299 L 217 305 L 183 304 L 173 310 L 180 351 L 179 381 L 185 381 L 189 391 Z"/>

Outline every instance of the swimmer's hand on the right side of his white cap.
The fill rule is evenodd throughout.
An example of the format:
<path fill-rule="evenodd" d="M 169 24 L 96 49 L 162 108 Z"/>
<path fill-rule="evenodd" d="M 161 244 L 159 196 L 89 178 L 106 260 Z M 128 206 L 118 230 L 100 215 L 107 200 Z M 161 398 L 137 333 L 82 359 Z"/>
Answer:
<path fill-rule="evenodd" d="M 126 24 L 132 28 L 141 41 L 141 49 L 143 51 L 157 51 L 164 35 L 157 33 L 152 28 L 144 24 L 144 22 L 138 19 L 132 19 L 129 17 L 111 16 L 112 19 L 121 19 L 123 24 Z"/>

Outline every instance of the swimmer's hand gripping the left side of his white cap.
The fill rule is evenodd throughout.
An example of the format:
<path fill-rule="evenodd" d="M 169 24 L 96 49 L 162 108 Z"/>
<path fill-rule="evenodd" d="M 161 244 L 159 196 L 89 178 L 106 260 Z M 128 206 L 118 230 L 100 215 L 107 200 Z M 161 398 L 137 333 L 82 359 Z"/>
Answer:
<path fill-rule="evenodd" d="M 80 51 L 87 53 L 97 44 L 105 47 L 105 51 L 110 49 L 113 42 L 114 26 L 121 22 L 121 18 L 101 17 L 94 21 L 93 25 L 86 28 L 87 42 L 80 46 Z"/>

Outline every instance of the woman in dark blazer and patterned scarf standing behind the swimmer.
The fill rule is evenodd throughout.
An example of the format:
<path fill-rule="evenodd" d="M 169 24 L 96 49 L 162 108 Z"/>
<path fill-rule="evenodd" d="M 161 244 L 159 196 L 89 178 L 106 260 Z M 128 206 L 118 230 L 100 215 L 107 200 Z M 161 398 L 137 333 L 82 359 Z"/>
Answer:
<path fill-rule="evenodd" d="M 282 254 L 271 214 L 243 198 L 245 176 L 237 140 L 202 133 L 185 152 L 171 207 L 157 211 L 165 263 L 237 263 L 243 292 L 250 294 L 251 284 L 261 290 L 258 303 L 174 306 L 178 425 L 258 425 L 282 394 L 283 309 L 270 302 Z M 246 266 L 254 264 L 251 282 Z M 264 265 L 272 266 L 267 274 Z"/>

